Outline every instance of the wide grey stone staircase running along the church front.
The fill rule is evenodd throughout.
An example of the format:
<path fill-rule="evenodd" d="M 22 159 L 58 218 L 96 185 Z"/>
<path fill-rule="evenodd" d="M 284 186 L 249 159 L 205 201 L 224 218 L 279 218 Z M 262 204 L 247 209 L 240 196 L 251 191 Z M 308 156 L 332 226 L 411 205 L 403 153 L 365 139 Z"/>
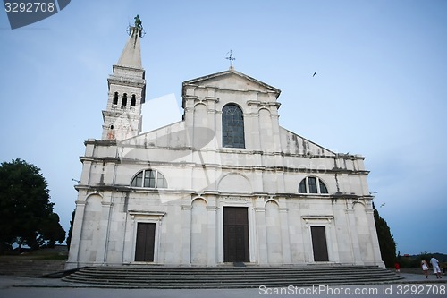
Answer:
<path fill-rule="evenodd" d="M 395 273 L 375 266 L 305 267 L 85 267 L 63 277 L 63 281 L 114 287 L 175 288 L 250 288 L 366 285 L 400 280 Z"/>

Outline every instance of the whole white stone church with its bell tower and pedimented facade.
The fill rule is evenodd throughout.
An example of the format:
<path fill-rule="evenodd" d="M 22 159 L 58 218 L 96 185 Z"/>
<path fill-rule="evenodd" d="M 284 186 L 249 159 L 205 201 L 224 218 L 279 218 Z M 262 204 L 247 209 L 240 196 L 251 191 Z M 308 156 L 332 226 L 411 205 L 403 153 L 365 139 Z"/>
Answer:
<path fill-rule="evenodd" d="M 279 125 L 280 90 L 238 72 L 182 84 L 178 122 L 142 132 L 141 29 L 85 141 L 67 268 L 351 264 L 384 267 L 364 158 Z"/>

